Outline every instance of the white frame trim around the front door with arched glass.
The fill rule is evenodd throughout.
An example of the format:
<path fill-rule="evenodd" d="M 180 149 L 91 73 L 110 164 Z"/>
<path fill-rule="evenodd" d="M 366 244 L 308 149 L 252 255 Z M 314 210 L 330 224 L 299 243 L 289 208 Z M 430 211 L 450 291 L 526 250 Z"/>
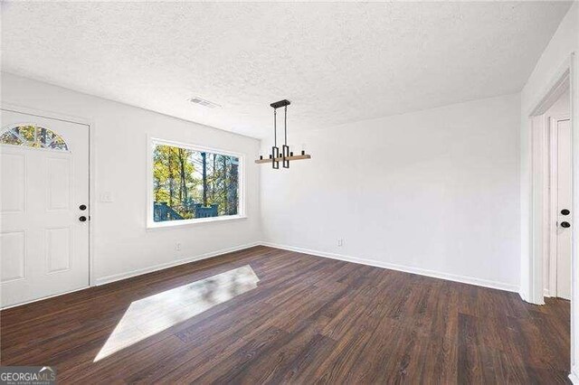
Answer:
<path fill-rule="evenodd" d="M 94 177 L 95 173 L 95 156 L 96 156 L 96 152 L 95 152 L 95 147 L 94 147 L 94 124 L 92 123 L 92 121 L 90 119 L 84 118 L 84 117 L 72 117 L 72 116 L 67 116 L 67 115 L 63 115 L 61 113 L 57 113 L 57 112 L 52 112 L 52 111 L 43 111 L 40 109 L 36 109 L 36 108 L 28 108 L 28 107 L 24 107 L 24 106 L 20 106 L 20 105 L 16 105 L 14 103 L 10 103 L 10 102 L 6 102 L 5 100 L 2 100 L 2 106 L 0 107 L 0 109 L 4 110 L 4 111 L 12 111 L 12 112 L 19 112 L 19 113 L 23 113 L 23 114 L 27 114 L 27 115 L 32 115 L 35 117 L 46 117 L 49 119 L 55 119 L 55 120 L 62 120 L 65 122 L 71 122 L 71 123 L 76 123 L 76 124 L 80 124 L 83 126 L 87 126 L 89 128 L 89 218 L 90 221 L 88 221 L 89 223 L 89 286 L 95 286 L 95 274 L 94 274 L 94 224 L 95 221 L 97 220 L 96 215 L 95 215 L 95 207 L 96 207 L 96 178 Z M 87 287 L 82 287 L 81 289 L 78 290 L 83 290 Z M 78 291 L 78 290 L 73 290 L 73 291 Z M 60 293 L 58 295 L 55 296 L 62 296 L 63 294 L 66 293 Z M 24 304 L 28 304 L 31 302 L 36 302 L 36 301 L 40 301 L 42 299 L 46 299 L 46 298 L 50 298 L 52 296 L 46 296 L 43 298 L 38 298 L 35 299 L 33 301 L 29 301 L 29 302 L 25 302 L 23 304 L 18 304 L 16 306 L 20 306 L 20 305 L 24 305 Z"/>

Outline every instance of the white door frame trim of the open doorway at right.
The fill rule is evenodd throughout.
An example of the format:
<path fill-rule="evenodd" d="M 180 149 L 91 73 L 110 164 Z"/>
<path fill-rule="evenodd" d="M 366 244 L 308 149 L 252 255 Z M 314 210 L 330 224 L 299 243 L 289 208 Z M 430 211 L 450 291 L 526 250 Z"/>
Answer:
<path fill-rule="evenodd" d="M 573 174 L 573 207 L 572 215 L 572 255 L 571 255 L 571 373 L 572 380 L 579 380 L 579 346 L 575 343 L 576 334 L 579 333 L 579 317 L 577 317 L 577 299 L 579 298 L 579 237 L 575 228 L 579 224 L 579 122 L 578 109 L 574 101 L 577 95 L 577 74 L 574 70 L 575 58 L 572 53 L 555 72 L 555 76 L 549 83 L 549 87 L 542 95 L 537 95 L 537 103 L 527 114 L 528 123 L 531 127 L 530 133 L 530 207 L 529 207 L 529 229 L 530 229 L 530 251 L 528 253 L 528 270 L 523 272 L 524 277 L 528 277 L 528 286 L 521 287 L 523 293 L 527 293 L 527 302 L 536 305 L 545 304 L 544 273 L 543 264 L 549 253 L 549 211 L 550 195 L 549 186 L 549 166 L 548 166 L 548 122 L 544 116 L 546 110 L 550 108 L 557 99 L 568 88 L 571 116 L 571 136 L 572 136 L 572 174 Z"/>

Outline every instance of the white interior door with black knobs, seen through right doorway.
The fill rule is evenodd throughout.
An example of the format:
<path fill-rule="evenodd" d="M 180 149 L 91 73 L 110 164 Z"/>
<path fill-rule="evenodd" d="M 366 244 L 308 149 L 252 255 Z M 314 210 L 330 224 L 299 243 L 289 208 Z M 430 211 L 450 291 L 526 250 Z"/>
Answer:
<path fill-rule="evenodd" d="M 571 299 L 571 121 L 555 119 L 557 129 L 556 296 Z"/>

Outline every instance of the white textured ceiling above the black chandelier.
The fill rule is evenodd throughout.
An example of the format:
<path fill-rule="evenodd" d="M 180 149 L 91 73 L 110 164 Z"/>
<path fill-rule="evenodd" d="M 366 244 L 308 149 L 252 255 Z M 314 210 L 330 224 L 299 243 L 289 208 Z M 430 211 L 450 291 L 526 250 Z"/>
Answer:
<path fill-rule="evenodd" d="M 2 65 L 264 137 L 517 92 L 569 6 L 3 2 Z"/>

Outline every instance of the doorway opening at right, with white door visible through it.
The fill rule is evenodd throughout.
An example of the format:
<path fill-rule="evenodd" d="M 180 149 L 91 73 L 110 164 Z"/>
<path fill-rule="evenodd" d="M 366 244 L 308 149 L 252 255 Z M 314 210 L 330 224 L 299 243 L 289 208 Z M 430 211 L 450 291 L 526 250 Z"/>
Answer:
<path fill-rule="evenodd" d="M 545 304 L 546 296 L 571 299 L 575 215 L 571 68 L 564 67 L 529 115 L 532 245 L 527 301 L 536 305 Z"/>

